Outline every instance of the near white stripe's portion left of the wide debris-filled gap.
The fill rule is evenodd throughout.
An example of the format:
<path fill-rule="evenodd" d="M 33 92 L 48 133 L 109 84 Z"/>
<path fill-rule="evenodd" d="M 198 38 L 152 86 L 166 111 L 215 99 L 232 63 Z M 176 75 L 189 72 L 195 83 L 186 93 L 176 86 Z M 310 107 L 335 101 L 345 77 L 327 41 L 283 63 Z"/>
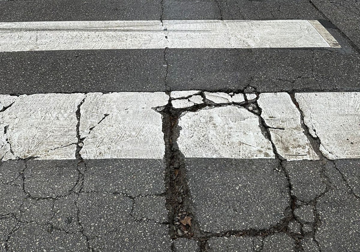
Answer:
<path fill-rule="evenodd" d="M 9 105 L 9 97 L 0 95 L 0 104 Z M 162 92 L 21 95 L 0 112 L 0 160 L 75 159 L 80 104 L 83 158 L 161 159 L 162 117 L 152 108 L 168 100 Z"/>

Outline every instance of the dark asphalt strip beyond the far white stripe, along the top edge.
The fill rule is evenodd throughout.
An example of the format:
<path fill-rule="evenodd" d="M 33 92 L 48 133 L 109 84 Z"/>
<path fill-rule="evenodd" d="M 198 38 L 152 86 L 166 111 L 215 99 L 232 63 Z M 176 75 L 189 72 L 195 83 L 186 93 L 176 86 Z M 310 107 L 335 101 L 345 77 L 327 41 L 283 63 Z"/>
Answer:
<path fill-rule="evenodd" d="M 321 18 L 307 0 L 0 1 L 0 22 Z"/>

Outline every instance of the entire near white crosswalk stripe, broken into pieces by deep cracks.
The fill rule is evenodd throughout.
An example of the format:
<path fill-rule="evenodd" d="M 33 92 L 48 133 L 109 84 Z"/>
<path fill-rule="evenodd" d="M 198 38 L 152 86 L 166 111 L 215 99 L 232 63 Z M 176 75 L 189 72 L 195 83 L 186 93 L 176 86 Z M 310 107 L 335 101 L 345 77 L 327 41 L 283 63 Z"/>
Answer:
<path fill-rule="evenodd" d="M 202 105 L 195 112 L 189 108 L 180 116 L 177 145 L 185 157 L 275 158 L 273 145 L 261 131 L 262 117 L 283 158 L 318 159 L 288 94 L 260 94 L 253 101 L 262 109 L 260 116 L 251 104 L 245 108 L 234 103 L 235 95 L 227 104 Z M 161 159 L 165 154 L 162 115 L 153 108 L 192 100 L 194 106 L 203 102 L 203 96 L 204 92 L 177 100 L 163 92 L 0 95 L 0 160 L 75 159 L 78 137 L 84 159 Z M 297 93 L 295 97 L 310 133 L 321 141 L 319 151 L 329 159 L 360 158 L 360 93 Z"/>

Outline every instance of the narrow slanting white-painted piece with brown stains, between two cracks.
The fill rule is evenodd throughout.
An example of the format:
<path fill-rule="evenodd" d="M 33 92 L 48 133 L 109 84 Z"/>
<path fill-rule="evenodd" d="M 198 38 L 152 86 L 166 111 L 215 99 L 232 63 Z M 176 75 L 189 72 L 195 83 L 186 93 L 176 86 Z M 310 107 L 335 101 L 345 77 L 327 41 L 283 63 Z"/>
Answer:
<path fill-rule="evenodd" d="M 292 160 L 317 160 L 319 156 L 312 148 L 301 127 L 300 112 L 287 93 L 262 93 L 257 100 L 262 109 L 261 117 L 269 129 L 271 141 L 280 156 Z"/>

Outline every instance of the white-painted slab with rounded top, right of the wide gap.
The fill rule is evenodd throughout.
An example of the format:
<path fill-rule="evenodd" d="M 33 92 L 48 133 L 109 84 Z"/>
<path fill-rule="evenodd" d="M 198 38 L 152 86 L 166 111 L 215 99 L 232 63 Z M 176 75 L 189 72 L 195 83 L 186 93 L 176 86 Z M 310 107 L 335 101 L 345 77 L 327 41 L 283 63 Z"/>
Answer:
<path fill-rule="evenodd" d="M 237 106 L 201 109 L 179 119 L 177 144 L 185 157 L 274 158 L 259 118 Z"/>

